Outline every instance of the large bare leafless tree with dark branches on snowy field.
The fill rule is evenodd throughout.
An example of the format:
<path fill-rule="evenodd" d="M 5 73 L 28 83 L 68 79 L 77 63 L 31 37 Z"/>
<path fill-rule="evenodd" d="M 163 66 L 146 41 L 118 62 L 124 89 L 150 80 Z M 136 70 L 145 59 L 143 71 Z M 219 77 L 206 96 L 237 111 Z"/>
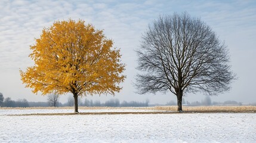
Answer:
<path fill-rule="evenodd" d="M 217 95 L 236 79 L 229 52 L 211 28 L 189 14 L 160 16 L 149 25 L 138 54 L 138 93 L 170 91 L 178 111 L 186 92 Z M 145 84 L 146 83 L 146 84 Z"/>

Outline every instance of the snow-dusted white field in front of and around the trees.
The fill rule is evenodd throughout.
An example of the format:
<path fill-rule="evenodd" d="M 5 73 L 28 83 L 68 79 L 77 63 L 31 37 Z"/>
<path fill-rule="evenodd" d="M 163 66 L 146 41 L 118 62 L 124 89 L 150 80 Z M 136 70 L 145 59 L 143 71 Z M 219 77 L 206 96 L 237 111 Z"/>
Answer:
<path fill-rule="evenodd" d="M 10 116 L 72 112 L 0 109 L 0 142 L 256 142 L 255 113 Z"/>

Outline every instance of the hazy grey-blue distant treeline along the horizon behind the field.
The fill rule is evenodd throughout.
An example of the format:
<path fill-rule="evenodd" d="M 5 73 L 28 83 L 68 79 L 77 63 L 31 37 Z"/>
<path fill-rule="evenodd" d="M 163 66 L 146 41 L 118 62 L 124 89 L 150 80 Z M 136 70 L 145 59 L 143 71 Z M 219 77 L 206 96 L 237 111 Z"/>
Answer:
<path fill-rule="evenodd" d="M 61 102 L 57 102 L 57 107 L 73 107 L 74 99 L 73 97 L 69 97 L 67 102 L 64 104 Z M 78 105 L 84 107 L 148 107 L 155 105 L 163 105 L 163 104 L 149 104 L 149 100 L 145 100 L 143 102 L 138 101 L 122 101 L 120 102 L 118 99 L 111 99 L 106 102 L 93 101 L 88 100 L 87 98 L 79 98 Z M 177 105 L 176 101 L 169 101 L 165 105 Z M 243 105 L 242 102 L 236 101 L 225 101 L 225 102 L 215 102 L 211 101 L 210 97 L 205 97 L 201 102 L 194 101 L 189 102 L 183 98 L 183 105 L 187 106 L 201 106 L 201 105 Z M 256 103 L 252 103 L 249 105 L 256 105 Z M 10 97 L 4 98 L 2 93 L 0 92 L 0 107 L 51 107 L 53 104 L 51 102 L 29 102 L 26 99 L 23 100 L 11 100 Z"/>

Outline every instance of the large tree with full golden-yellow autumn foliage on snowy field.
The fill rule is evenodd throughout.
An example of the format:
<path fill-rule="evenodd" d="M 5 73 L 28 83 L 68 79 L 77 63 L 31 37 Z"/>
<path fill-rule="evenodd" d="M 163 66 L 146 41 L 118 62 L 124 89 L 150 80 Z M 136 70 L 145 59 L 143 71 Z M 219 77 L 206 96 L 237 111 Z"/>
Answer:
<path fill-rule="evenodd" d="M 35 66 L 21 71 L 21 80 L 42 95 L 71 92 L 78 113 L 78 96 L 119 92 L 124 82 L 120 50 L 112 48 L 103 30 L 95 30 L 82 20 L 55 21 L 42 30 L 30 46 Z"/>

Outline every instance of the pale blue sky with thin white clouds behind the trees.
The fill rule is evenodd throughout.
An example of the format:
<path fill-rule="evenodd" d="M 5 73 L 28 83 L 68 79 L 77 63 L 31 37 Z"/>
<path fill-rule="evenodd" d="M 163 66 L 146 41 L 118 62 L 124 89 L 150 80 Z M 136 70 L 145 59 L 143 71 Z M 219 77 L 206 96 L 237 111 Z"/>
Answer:
<path fill-rule="evenodd" d="M 230 52 L 230 64 L 238 80 L 232 89 L 212 101 L 235 100 L 243 104 L 256 102 L 254 91 L 256 81 L 256 1 L 0 1 L 0 92 L 12 100 L 26 98 L 28 101 L 47 101 L 41 94 L 33 94 L 20 80 L 19 70 L 33 66 L 28 57 L 44 27 L 50 27 L 57 20 L 84 20 L 96 29 L 104 29 L 107 38 L 121 49 L 122 63 L 126 64 L 122 91 L 112 95 L 87 96 L 89 100 L 104 102 L 112 98 L 120 101 L 145 101 L 150 104 L 166 104 L 176 101 L 170 92 L 139 95 L 133 83 L 138 71 L 137 54 L 143 33 L 159 15 L 181 14 L 184 11 L 192 17 L 199 17 L 219 36 Z M 66 102 L 71 94 L 61 95 Z M 202 93 L 186 94 L 186 101 L 201 101 Z M 84 98 L 83 98 L 84 99 Z"/>

